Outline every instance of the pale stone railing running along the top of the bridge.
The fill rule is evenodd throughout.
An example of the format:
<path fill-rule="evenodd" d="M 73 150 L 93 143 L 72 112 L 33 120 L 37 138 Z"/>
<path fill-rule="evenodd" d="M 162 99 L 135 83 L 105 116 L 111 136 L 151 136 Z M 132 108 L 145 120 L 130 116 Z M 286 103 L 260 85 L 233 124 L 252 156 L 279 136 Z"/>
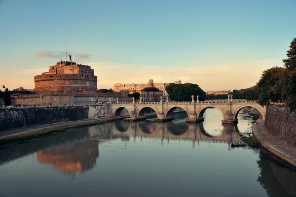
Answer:
<path fill-rule="evenodd" d="M 169 101 L 169 102 L 118 102 L 118 103 L 111 103 L 112 105 L 148 105 L 148 104 L 221 104 L 221 103 L 252 103 L 256 104 L 258 103 L 258 100 L 217 100 L 217 101 L 197 101 L 197 102 L 190 102 L 190 101 L 182 101 L 182 102 L 175 102 L 175 101 Z"/>

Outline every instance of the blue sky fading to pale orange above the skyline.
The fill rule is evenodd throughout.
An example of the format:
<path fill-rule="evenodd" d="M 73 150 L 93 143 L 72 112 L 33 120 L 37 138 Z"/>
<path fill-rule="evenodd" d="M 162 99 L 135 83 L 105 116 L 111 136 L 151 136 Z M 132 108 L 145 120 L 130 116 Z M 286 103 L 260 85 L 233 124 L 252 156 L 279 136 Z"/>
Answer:
<path fill-rule="evenodd" d="M 98 89 L 150 78 L 249 88 L 283 66 L 295 24 L 296 0 L 0 0 L 0 84 L 34 88 L 67 44 Z"/>

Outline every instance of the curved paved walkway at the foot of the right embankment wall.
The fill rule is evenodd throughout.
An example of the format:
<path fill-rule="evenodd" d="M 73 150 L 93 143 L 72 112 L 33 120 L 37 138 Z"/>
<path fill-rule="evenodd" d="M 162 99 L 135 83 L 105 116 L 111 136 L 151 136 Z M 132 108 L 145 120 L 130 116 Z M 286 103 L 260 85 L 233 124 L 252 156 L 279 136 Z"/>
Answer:
<path fill-rule="evenodd" d="M 253 126 L 253 132 L 261 145 L 274 155 L 296 166 L 296 148 L 284 144 L 269 135 L 264 128 L 264 121 L 262 119 L 258 119 L 257 122 L 259 125 Z"/>

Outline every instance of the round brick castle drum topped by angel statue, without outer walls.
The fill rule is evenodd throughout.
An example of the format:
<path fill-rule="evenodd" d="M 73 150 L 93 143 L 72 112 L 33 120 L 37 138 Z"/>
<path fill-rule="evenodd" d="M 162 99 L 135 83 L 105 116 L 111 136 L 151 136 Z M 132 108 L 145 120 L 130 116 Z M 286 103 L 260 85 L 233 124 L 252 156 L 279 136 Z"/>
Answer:
<path fill-rule="evenodd" d="M 60 61 L 34 77 L 35 93 L 97 92 L 97 76 L 90 66 Z"/>

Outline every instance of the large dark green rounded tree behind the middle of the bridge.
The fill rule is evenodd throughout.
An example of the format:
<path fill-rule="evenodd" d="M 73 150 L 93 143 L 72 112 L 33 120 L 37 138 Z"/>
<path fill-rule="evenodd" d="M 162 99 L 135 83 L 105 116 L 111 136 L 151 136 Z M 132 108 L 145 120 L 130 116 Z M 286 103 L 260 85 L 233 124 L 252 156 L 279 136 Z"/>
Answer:
<path fill-rule="evenodd" d="M 171 83 L 165 87 L 166 92 L 171 100 L 175 101 L 191 101 L 191 96 L 194 100 L 199 96 L 199 101 L 204 101 L 206 93 L 197 85 L 192 83 L 175 84 Z"/>

